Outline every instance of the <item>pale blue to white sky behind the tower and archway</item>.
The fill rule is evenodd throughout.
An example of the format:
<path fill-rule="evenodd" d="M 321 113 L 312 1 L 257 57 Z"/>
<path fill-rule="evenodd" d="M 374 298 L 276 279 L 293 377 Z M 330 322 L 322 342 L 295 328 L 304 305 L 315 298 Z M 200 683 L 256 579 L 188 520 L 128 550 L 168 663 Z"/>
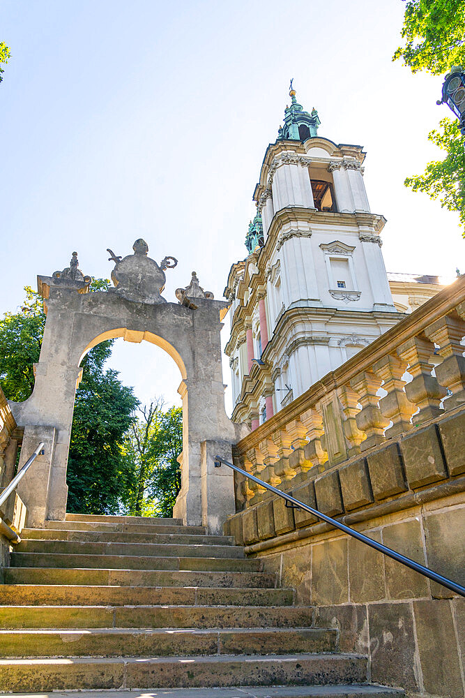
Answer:
<path fill-rule="evenodd" d="M 403 13 L 400 0 L 1 0 L 12 58 L 0 85 L 0 311 L 75 249 L 84 274 L 109 276 L 106 248 L 128 254 L 137 237 L 155 260 L 179 260 L 168 300 L 192 269 L 221 297 L 245 256 L 290 77 L 321 135 L 365 147 L 388 270 L 452 279 L 465 269 L 458 216 L 402 184 L 439 157 L 427 133 L 448 113 L 441 78 L 391 61 Z M 121 340 L 111 363 L 142 400 L 176 399 L 162 350 Z"/>

